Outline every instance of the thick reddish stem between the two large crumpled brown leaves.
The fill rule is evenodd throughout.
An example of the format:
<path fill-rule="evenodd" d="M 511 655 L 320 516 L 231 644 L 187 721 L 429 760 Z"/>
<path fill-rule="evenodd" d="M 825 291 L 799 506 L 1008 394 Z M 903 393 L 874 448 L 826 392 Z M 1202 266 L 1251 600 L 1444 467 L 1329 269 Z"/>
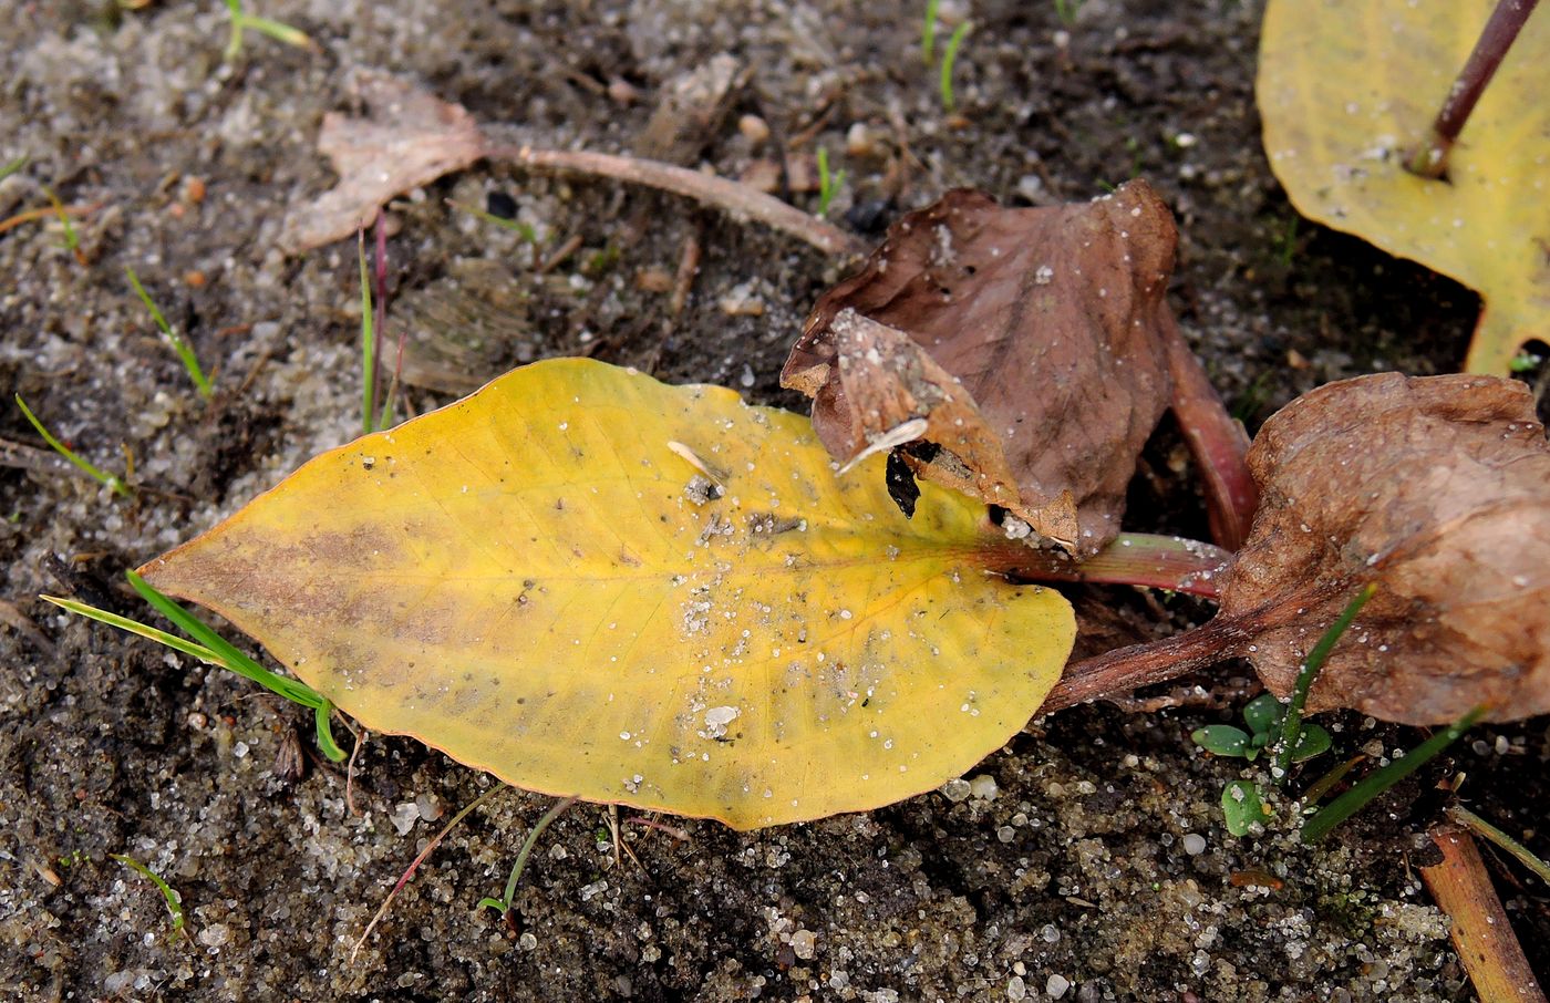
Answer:
<path fill-rule="evenodd" d="M 1173 415 L 1206 484 L 1211 535 L 1223 547 L 1238 550 L 1249 536 L 1259 507 L 1259 485 L 1245 460 L 1249 437 L 1228 414 L 1173 318 L 1166 318 L 1162 324 L 1162 341 L 1173 377 Z"/>

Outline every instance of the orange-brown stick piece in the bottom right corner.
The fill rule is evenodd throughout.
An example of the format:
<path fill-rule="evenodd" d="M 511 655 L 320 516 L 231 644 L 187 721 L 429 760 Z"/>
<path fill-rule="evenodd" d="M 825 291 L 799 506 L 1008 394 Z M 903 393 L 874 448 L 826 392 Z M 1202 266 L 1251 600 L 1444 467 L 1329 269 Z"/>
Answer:
<path fill-rule="evenodd" d="M 1443 859 L 1423 867 L 1421 881 L 1438 908 L 1452 919 L 1454 949 L 1469 972 L 1476 994 L 1482 1000 L 1545 1003 L 1474 839 L 1451 826 L 1432 829 L 1431 837 Z"/>

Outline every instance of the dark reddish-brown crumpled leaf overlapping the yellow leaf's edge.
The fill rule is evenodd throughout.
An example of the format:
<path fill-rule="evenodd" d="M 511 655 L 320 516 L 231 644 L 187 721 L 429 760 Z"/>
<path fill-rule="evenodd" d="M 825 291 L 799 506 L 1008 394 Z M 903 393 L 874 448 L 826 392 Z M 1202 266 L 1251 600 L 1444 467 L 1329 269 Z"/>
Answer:
<path fill-rule="evenodd" d="M 818 299 L 781 383 L 837 459 L 924 439 L 919 476 L 1093 553 L 1169 403 L 1175 243 L 1145 181 L 1042 209 L 947 192 Z"/>

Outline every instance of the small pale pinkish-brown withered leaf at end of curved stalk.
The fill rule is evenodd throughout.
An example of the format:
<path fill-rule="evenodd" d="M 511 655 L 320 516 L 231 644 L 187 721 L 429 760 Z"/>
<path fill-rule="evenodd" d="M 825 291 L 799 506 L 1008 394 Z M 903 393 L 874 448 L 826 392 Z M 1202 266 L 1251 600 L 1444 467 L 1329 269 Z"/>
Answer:
<path fill-rule="evenodd" d="M 367 116 L 329 112 L 318 135 L 339 183 L 290 211 L 279 240 L 287 254 L 349 237 L 395 195 L 484 157 L 485 136 L 462 105 L 383 73 L 363 71 L 356 88 Z"/>

